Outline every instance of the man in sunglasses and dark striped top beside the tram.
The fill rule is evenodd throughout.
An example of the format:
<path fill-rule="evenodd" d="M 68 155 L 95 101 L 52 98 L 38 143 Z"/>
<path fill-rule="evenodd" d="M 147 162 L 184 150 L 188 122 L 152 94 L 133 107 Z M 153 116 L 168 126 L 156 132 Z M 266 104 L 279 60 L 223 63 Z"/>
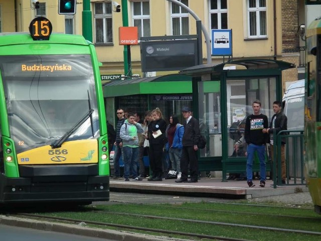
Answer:
<path fill-rule="evenodd" d="M 119 158 L 120 158 L 120 155 L 123 157 L 122 140 L 119 136 L 120 128 L 125 122 L 123 109 L 121 109 L 121 108 L 117 109 L 117 117 L 118 117 L 118 121 L 117 121 L 117 126 L 116 126 L 116 141 L 115 141 L 115 151 L 114 151 L 114 157 L 113 157 L 114 171 L 115 171 L 114 179 L 120 178 Z"/>

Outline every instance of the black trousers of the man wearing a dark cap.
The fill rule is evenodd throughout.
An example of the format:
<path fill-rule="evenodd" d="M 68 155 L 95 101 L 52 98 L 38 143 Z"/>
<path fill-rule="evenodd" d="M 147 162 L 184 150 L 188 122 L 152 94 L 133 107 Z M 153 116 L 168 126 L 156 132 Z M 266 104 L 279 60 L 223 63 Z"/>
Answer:
<path fill-rule="evenodd" d="M 199 164 L 197 160 L 197 151 L 194 151 L 194 147 L 183 147 L 181 157 L 181 179 L 188 178 L 188 166 L 190 164 L 191 179 L 197 180 L 199 174 Z"/>

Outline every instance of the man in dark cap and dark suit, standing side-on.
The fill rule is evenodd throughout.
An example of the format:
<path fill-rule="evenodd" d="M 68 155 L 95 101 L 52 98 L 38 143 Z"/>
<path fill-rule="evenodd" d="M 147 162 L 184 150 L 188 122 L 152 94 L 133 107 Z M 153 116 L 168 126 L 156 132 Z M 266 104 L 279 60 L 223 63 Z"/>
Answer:
<path fill-rule="evenodd" d="M 175 182 L 198 182 L 198 160 L 197 160 L 197 144 L 200 140 L 201 132 L 199 121 L 192 116 L 192 111 L 189 107 L 184 107 L 183 116 L 186 119 L 184 125 L 184 135 L 182 139 L 183 150 L 181 157 L 182 176 Z M 188 165 L 190 164 L 191 180 L 188 181 Z"/>

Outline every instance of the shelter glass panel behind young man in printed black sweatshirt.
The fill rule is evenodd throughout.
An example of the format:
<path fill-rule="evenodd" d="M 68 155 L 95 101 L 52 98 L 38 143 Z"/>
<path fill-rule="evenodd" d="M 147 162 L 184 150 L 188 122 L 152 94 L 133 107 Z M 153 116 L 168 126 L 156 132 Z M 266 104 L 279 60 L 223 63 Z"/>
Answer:
<path fill-rule="evenodd" d="M 261 113 L 269 121 L 273 115 L 272 104 L 276 100 L 276 81 L 270 78 L 248 78 L 227 80 L 227 130 L 228 156 L 245 157 L 245 119 L 253 113 L 252 103 L 261 101 Z M 239 145 L 235 143 L 239 142 Z"/>

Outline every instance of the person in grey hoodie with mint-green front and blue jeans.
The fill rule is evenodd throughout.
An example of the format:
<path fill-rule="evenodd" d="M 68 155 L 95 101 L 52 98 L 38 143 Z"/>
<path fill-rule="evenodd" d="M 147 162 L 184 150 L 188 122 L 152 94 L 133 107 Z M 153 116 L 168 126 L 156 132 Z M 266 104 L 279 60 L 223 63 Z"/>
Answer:
<path fill-rule="evenodd" d="M 122 151 L 124 154 L 124 178 L 129 181 L 129 172 L 132 174 L 133 181 L 142 181 L 137 175 L 138 161 L 138 133 L 143 133 L 141 125 L 135 122 L 133 113 L 128 113 L 127 119 L 120 128 L 119 136 L 122 140 Z"/>

